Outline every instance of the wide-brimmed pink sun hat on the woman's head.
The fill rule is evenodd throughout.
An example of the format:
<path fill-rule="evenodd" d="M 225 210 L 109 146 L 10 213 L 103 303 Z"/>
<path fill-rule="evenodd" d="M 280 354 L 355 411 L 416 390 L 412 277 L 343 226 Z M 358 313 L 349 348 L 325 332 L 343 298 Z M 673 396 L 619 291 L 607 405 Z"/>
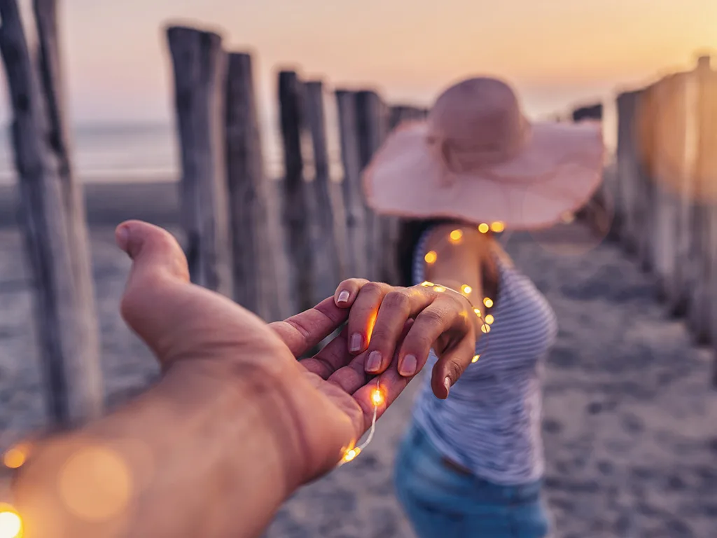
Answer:
<path fill-rule="evenodd" d="M 389 135 L 364 190 L 379 214 L 538 228 L 587 202 L 603 159 L 599 123 L 529 123 L 505 82 L 473 78 Z"/>

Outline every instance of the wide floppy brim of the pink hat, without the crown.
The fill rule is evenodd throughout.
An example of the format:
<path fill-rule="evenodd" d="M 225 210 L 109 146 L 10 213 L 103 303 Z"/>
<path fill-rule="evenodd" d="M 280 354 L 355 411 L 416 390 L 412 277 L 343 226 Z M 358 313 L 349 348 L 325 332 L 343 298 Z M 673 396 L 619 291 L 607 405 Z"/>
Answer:
<path fill-rule="evenodd" d="M 513 159 L 465 174 L 445 169 L 427 133 L 424 121 L 399 127 L 364 171 L 366 201 L 377 213 L 534 230 L 579 210 L 602 181 L 599 123 L 533 123 Z"/>

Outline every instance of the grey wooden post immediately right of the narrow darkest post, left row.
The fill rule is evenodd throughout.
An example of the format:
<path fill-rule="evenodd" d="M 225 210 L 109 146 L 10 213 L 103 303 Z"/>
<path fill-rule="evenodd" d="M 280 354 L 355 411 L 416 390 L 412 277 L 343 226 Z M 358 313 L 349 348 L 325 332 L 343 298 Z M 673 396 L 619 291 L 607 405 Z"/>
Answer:
<path fill-rule="evenodd" d="M 311 132 L 315 176 L 310 181 L 311 249 L 320 260 L 313 271 L 314 302 L 333 295 L 336 286 L 346 278 L 346 212 L 343 209 L 341 184 L 329 176 L 326 116 L 323 104 L 323 83 L 305 85 L 305 112 Z"/>

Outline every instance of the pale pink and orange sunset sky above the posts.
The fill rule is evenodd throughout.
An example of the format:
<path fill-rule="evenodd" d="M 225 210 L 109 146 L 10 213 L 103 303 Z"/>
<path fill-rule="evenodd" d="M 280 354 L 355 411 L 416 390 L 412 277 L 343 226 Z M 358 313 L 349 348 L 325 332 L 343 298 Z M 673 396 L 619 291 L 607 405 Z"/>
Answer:
<path fill-rule="evenodd" d="M 73 123 L 171 121 L 168 23 L 217 29 L 227 49 L 253 52 L 262 111 L 275 108 L 282 67 L 331 88 L 375 88 L 391 103 L 419 105 L 461 77 L 499 75 L 513 83 L 528 115 L 542 116 L 689 68 L 699 50 L 717 52 L 716 0 L 60 4 Z"/>

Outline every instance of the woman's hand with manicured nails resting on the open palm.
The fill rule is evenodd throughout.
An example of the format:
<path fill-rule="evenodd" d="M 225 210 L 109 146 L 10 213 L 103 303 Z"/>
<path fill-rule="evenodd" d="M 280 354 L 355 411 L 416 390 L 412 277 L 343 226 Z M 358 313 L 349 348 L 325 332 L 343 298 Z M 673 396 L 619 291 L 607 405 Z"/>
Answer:
<path fill-rule="evenodd" d="M 478 326 L 467 298 L 440 287 L 397 288 L 359 278 L 343 281 L 334 295 L 348 314 L 348 351 L 366 356 L 366 371 L 385 372 L 394 354 L 407 378 L 421 371 L 433 348 L 438 355 L 431 385 L 445 398 L 475 355 Z M 399 336 L 415 320 L 403 343 Z"/>

